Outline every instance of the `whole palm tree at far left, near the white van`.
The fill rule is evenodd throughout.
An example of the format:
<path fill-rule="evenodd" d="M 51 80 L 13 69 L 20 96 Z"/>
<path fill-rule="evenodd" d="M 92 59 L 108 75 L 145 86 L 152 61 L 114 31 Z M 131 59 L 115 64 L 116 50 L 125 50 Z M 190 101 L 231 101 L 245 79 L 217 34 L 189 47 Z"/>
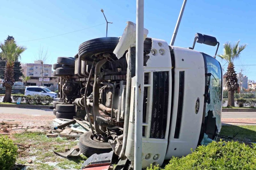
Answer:
<path fill-rule="evenodd" d="M 14 72 L 13 65 L 16 59 L 20 58 L 20 54 L 26 50 L 24 46 L 17 46 L 15 41 L 9 40 L 5 43 L 0 43 L 2 52 L 0 53 L 1 58 L 6 60 L 6 68 L 4 74 L 3 87 L 5 87 L 5 97 L 3 102 L 12 102 L 11 92 L 14 84 Z"/>

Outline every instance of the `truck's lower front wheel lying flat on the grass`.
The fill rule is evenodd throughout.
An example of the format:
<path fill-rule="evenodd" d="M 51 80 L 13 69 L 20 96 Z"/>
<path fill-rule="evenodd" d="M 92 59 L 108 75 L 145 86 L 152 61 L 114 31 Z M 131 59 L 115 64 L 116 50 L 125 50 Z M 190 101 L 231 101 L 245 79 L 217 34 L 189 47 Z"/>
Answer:
<path fill-rule="evenodd" d="M 93 154 L 102 154 L 112 151 L 112 147 L 108 142 L 95 141 L 91 131 L 88 131 L 79 137 L 79 149 L 82 154 L 87 157 Z"/>

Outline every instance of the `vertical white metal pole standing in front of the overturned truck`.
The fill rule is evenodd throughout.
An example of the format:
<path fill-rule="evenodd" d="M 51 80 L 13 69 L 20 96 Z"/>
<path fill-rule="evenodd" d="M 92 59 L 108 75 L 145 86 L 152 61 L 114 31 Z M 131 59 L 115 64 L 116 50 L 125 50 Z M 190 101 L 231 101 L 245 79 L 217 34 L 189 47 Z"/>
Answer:
<path fill-rule="evenodd" d="M 141 170 L 143 109 L 144 0 L 137 0 L 134 169 Z"/>

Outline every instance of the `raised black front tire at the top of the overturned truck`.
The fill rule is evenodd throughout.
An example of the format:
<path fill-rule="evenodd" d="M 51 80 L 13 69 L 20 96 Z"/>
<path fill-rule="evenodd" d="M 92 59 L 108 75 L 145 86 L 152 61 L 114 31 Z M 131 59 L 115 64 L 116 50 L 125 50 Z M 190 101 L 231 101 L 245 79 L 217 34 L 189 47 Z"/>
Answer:
<path fill-rule="evenodd" d="M 83 61 L 93 61 L 94 54 L 104 52 L 113 53 L 118 42 L 118 37 L 103 37 L 85 41 L 80 44 L 78 55 Z M 113 57 L 113 59 L 117 58 Z"/>

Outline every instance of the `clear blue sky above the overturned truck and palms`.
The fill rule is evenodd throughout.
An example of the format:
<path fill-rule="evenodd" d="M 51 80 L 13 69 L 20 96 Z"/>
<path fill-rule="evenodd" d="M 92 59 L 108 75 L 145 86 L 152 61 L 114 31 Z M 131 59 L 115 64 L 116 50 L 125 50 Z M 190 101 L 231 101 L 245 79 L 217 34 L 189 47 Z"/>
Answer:
<path fill-rule="evenodd" d="M 144 6 L 144 27 L 149 37 L 171 40 L 179 10 L 183 0 L 146 0 Z M 74 56 L 78 46 L 89 39 L 104 37 L 106 24 L 100 9 L 104 9 L 109 24 L 108 36 L 121 36 L 126 21 L 136 22 L 136 1 L 1 1 L 0 41 L 7 35 L 15 37 L 18 45 L 27 50 L 22 54 L 22 63 L 34 61 L 41 47 L 48 48 L 49 61 L 55 63 L 59 56 Z M 243 73 L 256 80 L 256 1 L 209 1 L 188 0 L 181 20 L 175 46 L 190 47 L 195 33 L 203 33 L 217 38 L 220 42 L 218 54 L 226 41 L 248 44 L 241 59 L 235 61 L 236 70 L 243 67 Z M 103 24 L 103 25 L 99 25 Z M 99 25 L 93 28 L 84 29 Z M 51 37 L 71 31 L 74 33 Z M 195 50 L 214 55 L 216 47 L 196 44 Z M 220 61 L 220 59 L 218 59 Z M 220 61 L 221 62 L 221 61 Z M 221 62 L 224 65 L 226 62 Z M 225 68 L 225 67 L 224 67 Z"/>

